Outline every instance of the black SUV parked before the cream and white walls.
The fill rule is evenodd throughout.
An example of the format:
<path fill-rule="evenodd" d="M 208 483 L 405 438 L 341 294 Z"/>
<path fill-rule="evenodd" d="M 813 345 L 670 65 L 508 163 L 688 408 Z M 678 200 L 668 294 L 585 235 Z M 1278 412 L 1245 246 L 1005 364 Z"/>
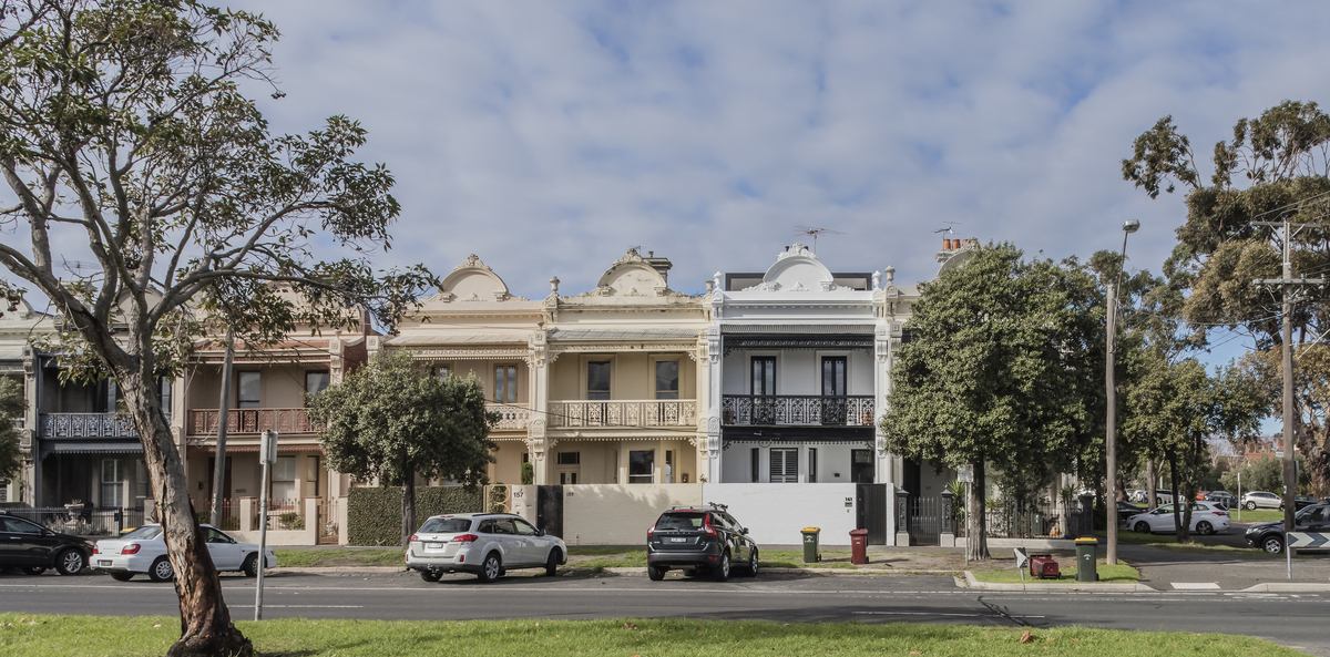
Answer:
<path fill-rule="evenodd" d="M 757 544 L 724 504 L 670 508 L 646 531 L 646 575 L 652 581 L 665 579 L 672 568 L 710 571 L 716 581 L 725 581 L 732 564 L 755 576 Z"/>

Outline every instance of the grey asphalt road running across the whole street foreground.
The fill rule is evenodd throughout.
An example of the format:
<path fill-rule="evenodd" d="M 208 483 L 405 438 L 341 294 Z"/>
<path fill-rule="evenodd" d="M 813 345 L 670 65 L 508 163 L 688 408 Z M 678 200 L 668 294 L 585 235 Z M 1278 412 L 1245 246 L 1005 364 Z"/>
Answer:
<path fill-rule="evenodd" d="M 253 617 L 254 580 L 223 577 L 237 618 Z M 951 577 L 771 576 L 726 584 L 670 577 L 524 577 L 491 585 L 469 576 L 424 583 L 411 573 L 277 575 L 267 618 L 694 617 L 785 622 L 942 622 L 1049 628 L 1226 632 L 1330 657 L 1330 593 L 1019 593 L 959 589 Z M 102 576 L 0 576 L 0 612 L 176 614 L 170 584 Z"/>

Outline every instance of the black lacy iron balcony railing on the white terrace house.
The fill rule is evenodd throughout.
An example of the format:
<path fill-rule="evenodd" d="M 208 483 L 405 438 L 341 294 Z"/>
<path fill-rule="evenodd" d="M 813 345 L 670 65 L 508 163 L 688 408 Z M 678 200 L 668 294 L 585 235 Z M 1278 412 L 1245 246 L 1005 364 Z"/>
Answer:
<path fill-rule="evenodd" d="M 872 395 L 724 395 L 726 426 L 871 427 Z"/>

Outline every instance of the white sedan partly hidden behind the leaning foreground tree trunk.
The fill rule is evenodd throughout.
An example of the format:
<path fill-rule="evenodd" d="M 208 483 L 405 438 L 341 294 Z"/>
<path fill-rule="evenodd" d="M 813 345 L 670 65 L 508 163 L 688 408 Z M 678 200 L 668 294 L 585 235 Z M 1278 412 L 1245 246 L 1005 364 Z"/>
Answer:
<path fill-rule="evenodd" d="M 239 543 L 225 532 L 202 525 L 207 552 L 218 571 L 239 571 L 249 577 L 258 576 L 258 545 Z M 166 541 L 161 525 L 144 525 L 118 539 L 97 541 L 90 564 L 93 571 L 105 571 L 120 581 L 145 573 L 153 581 L 169 581 L 176 569 L 166 559 Z M 266 568 L 277 568 L 277 555 L 267 548 Z"/>

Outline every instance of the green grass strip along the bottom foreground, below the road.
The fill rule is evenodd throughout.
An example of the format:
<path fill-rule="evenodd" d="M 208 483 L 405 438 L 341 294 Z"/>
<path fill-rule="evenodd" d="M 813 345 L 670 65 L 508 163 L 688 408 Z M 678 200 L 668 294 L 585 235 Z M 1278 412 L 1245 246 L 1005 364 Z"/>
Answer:
<path fill-rule="evenodd" d="M 971 625 L 778 624 L 757 621 L 311 621 L 235 624 L 269 657 L 420 654 L 696 656 L 983 654 L 1029 656 L 1298 656 L 1269 641 L 1229 634 L 1031 630 Z M 43 657 L 158 656 L 180 621 L 157 617 L 0 614 L 0 653 Z"/>

